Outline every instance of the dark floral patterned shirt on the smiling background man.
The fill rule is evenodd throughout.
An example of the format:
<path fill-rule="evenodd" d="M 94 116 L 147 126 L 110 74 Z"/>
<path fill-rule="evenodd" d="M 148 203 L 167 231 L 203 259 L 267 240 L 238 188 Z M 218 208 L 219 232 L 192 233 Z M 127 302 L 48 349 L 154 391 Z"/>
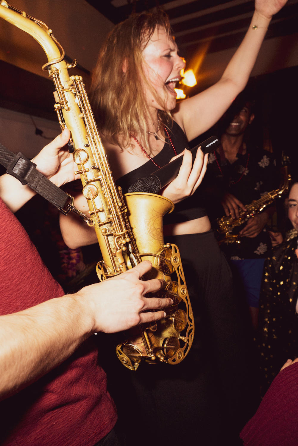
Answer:
<path fill-rule="evenodd" d="M 225 192 L 235 195 L 244 205 L 248 205 L 277 189 L 276 162 L 266 150 L 248 146 L 245 154 L 238 153 L 236 161 L 230 163 L 219 148 L 218 152 L 210 154 L 204 184 L 209 190 L 206 207 L 215 229 L 215 220 L 225 215 L 220 203 Z M 239 226 L 236 232 L 245 225 Z M 241 237 L 240 244 L 223 243 L 221 248 L 231 260 L 260 259 L 267 257 L 271 242 L 268 233 L 263 230 L 255 238 Z"/>

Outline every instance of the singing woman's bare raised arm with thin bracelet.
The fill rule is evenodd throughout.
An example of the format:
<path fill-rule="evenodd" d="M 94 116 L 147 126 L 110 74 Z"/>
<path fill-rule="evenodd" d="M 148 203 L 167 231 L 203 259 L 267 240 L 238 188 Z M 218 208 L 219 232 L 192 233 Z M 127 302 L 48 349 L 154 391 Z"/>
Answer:
<path fill-rule="evenodd" d="M 286 2 L 256 0 L 248 31 L 222 77 L 212 87 L 179 104 L 173 116 L 188 140 L 212 127 L 246 86 L 272 16 Z"/>

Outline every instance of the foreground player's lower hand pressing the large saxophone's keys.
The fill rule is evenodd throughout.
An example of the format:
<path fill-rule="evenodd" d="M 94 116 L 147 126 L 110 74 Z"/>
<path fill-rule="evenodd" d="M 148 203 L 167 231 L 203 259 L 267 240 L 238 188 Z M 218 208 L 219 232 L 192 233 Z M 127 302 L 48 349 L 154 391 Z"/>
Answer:
<path fill-rule="evenodd" d="M 151 268 L 151 262 L 144 260 L 119 276 L 89 285 L 76 293 L 90 304 L 92 332 L 115 333 L 165 317 L 162 309 L 171 306 L 172 299 L 145 297 L 147 293 L 164 287 L 165 282 L 160 279 L 140 280 Z"/>

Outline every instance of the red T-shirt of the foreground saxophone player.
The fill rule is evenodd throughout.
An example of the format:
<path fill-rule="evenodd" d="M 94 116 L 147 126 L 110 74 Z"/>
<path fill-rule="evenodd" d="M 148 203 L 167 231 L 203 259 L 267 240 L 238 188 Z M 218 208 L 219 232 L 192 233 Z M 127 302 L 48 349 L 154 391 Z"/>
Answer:
<path fill-rule="evenodd" d="M 0 200 L 0 314 L 24 310 L 63 289 Z M 92 338 L 36 383 L 0 403 L 1 445 L 92 446 L 117 415 Z"/>

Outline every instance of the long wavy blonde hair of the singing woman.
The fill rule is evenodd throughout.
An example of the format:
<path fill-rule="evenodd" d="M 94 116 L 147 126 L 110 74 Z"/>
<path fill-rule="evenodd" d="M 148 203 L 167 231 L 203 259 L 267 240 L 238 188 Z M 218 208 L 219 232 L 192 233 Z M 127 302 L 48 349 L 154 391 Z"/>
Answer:
<path fill-rule="evenodd" d="M 130 134 L 138 134 L 148 146 L 144 83 L 160 105 L 159 122 L 164 126 L 172 125 L 170 110 L 165 109 L 142 68 L 142 51 L 157 26 L 172 37 L 168 16 L 163 11 L 134 14 L 116 25 L 92 73 L 90 97 L 98 127 L 104 136 L 122 148 L 128 146 Z"/>

